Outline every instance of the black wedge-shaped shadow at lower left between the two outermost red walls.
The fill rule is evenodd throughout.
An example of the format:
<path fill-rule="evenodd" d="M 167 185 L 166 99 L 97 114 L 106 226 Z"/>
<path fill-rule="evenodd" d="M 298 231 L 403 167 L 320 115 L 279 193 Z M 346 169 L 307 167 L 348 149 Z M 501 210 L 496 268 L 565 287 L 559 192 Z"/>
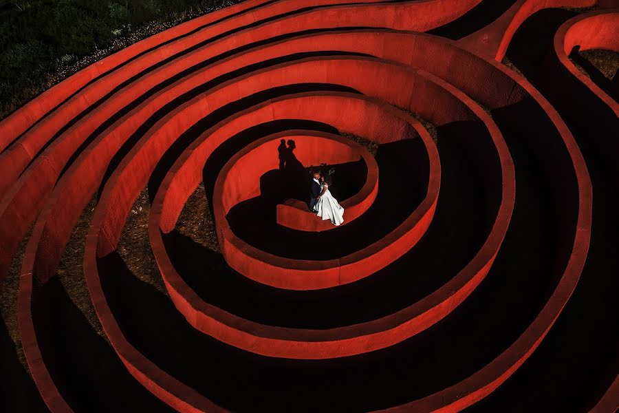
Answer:
<path fill-rule="evenodd" d="M 41 288 L 33 318 L 45 365 L 75 412 L 171 411 L 133 379 L 57 277 Z"/>

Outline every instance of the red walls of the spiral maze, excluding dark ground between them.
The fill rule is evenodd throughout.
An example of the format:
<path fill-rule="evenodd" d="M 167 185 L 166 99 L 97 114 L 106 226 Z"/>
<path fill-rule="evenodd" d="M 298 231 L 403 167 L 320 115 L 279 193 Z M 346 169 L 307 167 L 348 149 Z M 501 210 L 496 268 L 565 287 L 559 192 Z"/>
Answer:
<path fill-rule="evenodd" d="M 128 372 L 171 407 L 181 411 L 230 408 L 166 372 L 134 346 L 131 334 L 116 319 L 110 299 L 114 292 L 105 286 L 105 279 L 113 274 L 105 273 L 100 262 L 116 250 L 133 203 L 169 153 L 175 153 L 175 158 L 164 162 L 169 166 L 162 182 L 149 187 L 156 192 L 148 231 L 176 310 L 200 334 L 263 357 L 266 363 L 268 357 L 318 363 L 371 357 L 371 352 L 432 332 L 476 297 L 497 256 L 518 255 L 503 248 L 513 225 L 519 173 L 513 159 L 517 153 L 512 153 L 506 136 L 518 140 L 539 164 L 539 179 L 552 187 L 548 208 L 554 224 L 562 228 L 565 248 L 553 257 L 561 268 L 556 282 L 534 317 L 495 350 L 488 363 L 470 368 L 436 391 L 384 407 L 461 410 L 514 374 L 552 328 L 578 283 L 589 248 L 591 180 L 571 131 L 554 107 L 522 76 L 495 59 L 501 59 L 519 25 L 536 10 L 591 6 L 595 1 L 551 5 L 515 1 L 499 19 L 461 41 L 424 33 L 462 17 L 478 3 L 247 1 L 127 47 L 3 120 L 0 272 L 3 277 L 34 224 L 19 286 L 19 328 L 32 377 L 47 407 L 74 409 L 71 397 L 59 385 L 63 366 L 46 359 L 50 353 L 42 348 L 44 333 L 34 309 L 43 305 L 41 291 L 55 277 L 74 224 L 101 187 L 83 271 L 109 343 Z M 578 74 L 566 54 L 574 45 L 617 50 L 616 22 L 617 13 L 612 11 L 583 15 L 565 23 L 555 43 L 563 67 L 615 114 L 616 102 Z M 314 89 L 302 85 L 314 85 Z M 561 92 L 565 90 L 557 89 Z M 495 117 L 500 123 L 495 123 Z M 239 134 L 285 120 L 332 129 L 290 127 L 268 136 L 256 133 L 248 145 L 221 159 L 221 148 L 235 142 Z M 439 131 L 438 144 L 424 127 L 428 124 Z M 544 132 L 542 138 L 539 129 Z M 345 284 L 363 286 L 359 283 L 380 278 L 414 253 L 439 220 L 438 214 L 460 207 L 457 203 L 441 206 L 441 195 L 448 190 L 442 187 L 442 165 L 453 162 L 442 158 L 443 133 L 445 139 L 459 142 L 458 156 L 477 171 L 485 195 L 469 207 L 484 216 L 483 236 L 475 253 L 444 283 L 390 313 L 329 328 L 305 327 L 303 320 L 294 328 L 257 321 L 208 302 L 186 282 L 169 256 L 164 238 L 175 229 L 189 196 L 208 172 L 216 176 L 207 195 L 221 253 L 239 277 L 252 280 L 253 288 L 293 294 L 337 290 Z M 381 191 L 393 191 L 393 186 L 382 178 L 380 155 L 377 163 L 340 134 L 362 136 L 379 148 L 414 148 L 399 153 L 398 160 L 420 177 L 420 201 L 407 206 L 408 213 L 379 237 L 363 231 L 364 217 L 378 208 Z M 277 169 L 272 153 L 282 138 L 297 141 L 296 156 L 304 165 L 363 160 L 367 174 L 360 191 L 342 200 L 346 208 L 342 228 L 312 220 L 315 217 L 303 211 L 305 205 L 293 200 L 276 207 L 280 226 L 325 237 L 356 231 L 348 236 L 367 238 L 365 246 L 340 255 L 334 251 L 329 259 L 308 259 L 286 251 L 263 251 L 235 233 L 228 213 L 240 202 L 261 195 L 259 178 Z M 220 162 L 221 169 L 206 171 L 213 160 Z M 376 220 L 376 215 L 371 216 Z M 509 302 L 502 305 L 510 306 Z M 605 403 L 613 400 L 607 398 Z"/>

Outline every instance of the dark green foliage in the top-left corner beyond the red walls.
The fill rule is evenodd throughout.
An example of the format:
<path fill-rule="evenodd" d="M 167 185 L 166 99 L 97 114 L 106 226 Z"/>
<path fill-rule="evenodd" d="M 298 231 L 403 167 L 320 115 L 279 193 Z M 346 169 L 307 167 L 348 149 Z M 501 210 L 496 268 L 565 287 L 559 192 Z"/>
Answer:
<path fill-rule="evenodd" d="M 118 36 L 175 12 L 224 0 L 28 0 L 0 11 L 0 117 L 41 92 L 50 75 Z M 193 9 L 195 8 L 195 9 Z"/>

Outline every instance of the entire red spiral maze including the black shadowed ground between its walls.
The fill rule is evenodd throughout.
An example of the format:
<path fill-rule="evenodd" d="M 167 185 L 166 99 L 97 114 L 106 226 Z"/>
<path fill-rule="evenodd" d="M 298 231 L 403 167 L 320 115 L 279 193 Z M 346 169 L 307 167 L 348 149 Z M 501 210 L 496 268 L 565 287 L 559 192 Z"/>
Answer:
<path fill-rule="evenodd" d="M 0 277 L 27 240 L 19 332 L 46 408 L 615 410 L 618 80 L 569 56 L 619 52 L 617 6 L 247 0 L 2 120 Z M 284 193 L 281 140 L 305 178 L 349 179 L 342 226 Z M 162 290 L 119 253 L 144 189 Z M 219 251 L 178 234 L 196 193 Z M 115 372 L 97 379 L 56 332 L 88 209 L 83 279 Z M 557 373 L 581 352 L 589 388 Z"/>

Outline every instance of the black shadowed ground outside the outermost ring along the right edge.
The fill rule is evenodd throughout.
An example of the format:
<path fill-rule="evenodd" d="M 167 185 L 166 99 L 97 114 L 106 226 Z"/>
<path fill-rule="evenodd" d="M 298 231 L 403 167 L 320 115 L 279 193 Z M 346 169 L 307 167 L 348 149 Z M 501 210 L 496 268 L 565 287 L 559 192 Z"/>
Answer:
<path fill-rule="evenodd" d="M 587 162 L 594 194 L 587 262 L 574 294 L 539 348 L 513 377 L 470 411 L 587 412 L 619 371 L 614 328 L 619 293 L 619 193 L 614 177 L 619 174 L 612 159 L 616 151 L 609 149 L 616 141 L 612 133 L 619 121 L 616 116 L 609 118 L 599 99 L 573 76 L 561 78 L 561 88 L 574 92 L 566 102 L 543 72 L 547 67 L 539 67 L 545 54 L 554 54 L 556 29 L 573 16 L 566 10 L 534 14 L 514 36 L 508 58 L 558 109 Z"/>

